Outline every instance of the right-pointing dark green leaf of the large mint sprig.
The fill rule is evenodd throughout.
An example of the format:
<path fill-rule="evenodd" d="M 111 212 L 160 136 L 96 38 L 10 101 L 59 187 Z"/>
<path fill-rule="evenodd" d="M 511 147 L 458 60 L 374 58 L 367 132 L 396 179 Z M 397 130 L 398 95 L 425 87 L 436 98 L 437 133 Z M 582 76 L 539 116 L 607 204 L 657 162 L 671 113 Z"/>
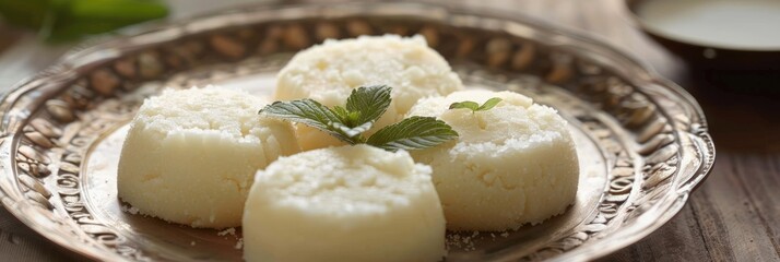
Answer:
<path fill-rule="evenodd" d="M 385 127 L 367 144 L 387 150 L 422 150 L 458 138 L 452 127 L 433 117 L 411 117 Z"/>

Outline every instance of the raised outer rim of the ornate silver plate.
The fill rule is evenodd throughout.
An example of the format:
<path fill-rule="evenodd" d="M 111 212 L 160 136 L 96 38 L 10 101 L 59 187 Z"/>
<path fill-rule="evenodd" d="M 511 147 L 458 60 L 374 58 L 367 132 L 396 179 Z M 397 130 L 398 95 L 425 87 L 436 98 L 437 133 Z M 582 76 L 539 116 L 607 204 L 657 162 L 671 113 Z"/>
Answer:
<path fill-rule="evenodd" d="M 46 195 L 51 193 L 43 188 L 44 186 L 40 186 L 40 182 L 36 181 L 32 176 L 16 174 L 17 163 L 14 154 L 19 153 L 20 143 L 22 136 L 24 136 L 22 134 L 22 128 L 26 127 L 24 121 L 35 114 L 33 110 L 50 97 L 59 95 L 59 92 L 51 91 L 58 90 L 59 86 L 72 84 L 82 74 L 91 72 L 105 61 L 119 58 L 126 53 L 142 51 L 146 47 L 192 34 L 271 20 L 317 16 L 322 13 L 335 16 L 351 14 L 369 16 L 416 15 L 417 17 L 429 17 L 444 23 L 469 25 L 480 31 L 495 31 L 532 38 L 548 45 L 551 48 L 568 50 L 572 56 L 604 62 L 605 68 L 630 83 L 631 86 L 636 86 L 633 92 L 640 93 L 643 97 L 652 100 L 653 105 L 666 103 L 666 107 L 660 108 L 660 114 L 664 115 L 665 119 L 669 120 L 669 126 L 674 128 L 672 133 L 681 143 L 679 146 L 682 148 L 679 150 L 683 152 L 679 157 L 685 158 L 685 162 L 679 164 L 678 170 L 673 175 L 673 181 L 670 183 L 672 190 L 669 190 L 664 195 L 657 195 L 658 199 L 650 205 L 630 206 L 633 210 L 639 209 L 642 211 L 638 212 L 638 219 L 635 223 L 624 225 L 619 230 L 615 230 L 612 234 L 589 239 L 587 243 L 577 245 L 575 249 L 562 248 L 560 250 L 564 253 L 553 257 L 555 260 L 598 258 L 649 235 L 682 209 L 690 191 L 706 178 L 712 167 L 714 146 L 707 133 L 704 114 L 694 98 L 679 86 L 658 76 L 640 60 L 619 51 L 618 48 L 595 40 L 591 36 L 557 28 L 516 14 L 509 15 L 486 11 L 477 13 L 457 7 L 445 8 L 435 4 L 406 2 L 355 3 L 340 5 L 339 8 L 326 4 L 302 4 L 247 8 L 240 11 L 172 23 L 153 31 L 98 45 L 86 45 L 63 57 L 60 62 L 49 70 L 16 85 L 13 92 L 9 93 L 0 104 L 0 111 L 3 112 L 0 126 L 0 152 L 2 153 L 0 155 L 0 169 L 2 170 L 2 174 L 0 174 L 0 200 L 23 223 L 61 246 L 92 258 L 126 259 L 127 257 L 122 257 L 120 253 L 127 255 L 126 252 L 130 251 L 110 251 L 95 241 L 93 237 L 87 236 L 74 221 L 69 217 L 60 217 L 55 212 L 47 212 L 51 206 L 46 200 Z M 669 105 L 669 103 L 675 105 Z M 677 121 L 679 117 L 686 119 Z M 40 141 L 37 136 L 26 136 L 26 139 L 33 143 Z M 46 142 L 43 141 L 40 143 Z M 22 152 L 22 154 L 24 153 Z M 40 164 L 40 162 L 31 163 Z M 64 166 L 66 164 L 61 165 Z M 57 168 L 64 168 L 63 166 L 57 166 Z M 20 190 L 20 184 L 26 187 L 27 190 Z"/>

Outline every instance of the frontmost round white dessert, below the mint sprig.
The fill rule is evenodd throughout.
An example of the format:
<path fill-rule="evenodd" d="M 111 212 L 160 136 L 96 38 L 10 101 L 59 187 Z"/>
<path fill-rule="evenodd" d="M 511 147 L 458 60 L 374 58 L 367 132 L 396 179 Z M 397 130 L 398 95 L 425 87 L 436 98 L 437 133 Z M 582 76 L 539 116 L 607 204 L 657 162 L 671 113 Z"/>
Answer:
<path fill-rule="evenodd" d="M 258 172 L 244 213 L 247 261 L 438 261 L 445 218 L 430 167 L 406 152 L 340 146 Z"/>

